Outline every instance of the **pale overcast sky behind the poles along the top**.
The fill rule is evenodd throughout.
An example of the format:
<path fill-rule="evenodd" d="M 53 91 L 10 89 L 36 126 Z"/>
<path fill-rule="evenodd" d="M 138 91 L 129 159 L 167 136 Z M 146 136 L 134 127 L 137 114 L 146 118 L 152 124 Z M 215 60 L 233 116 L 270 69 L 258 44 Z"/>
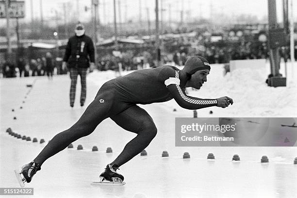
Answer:
<path fill-rule="evenodd" d="M 85 22 L 91 17 L 91 10 L 85 11 L 85 6 L 90 7 L 92 0 L 24 0 L 26 6 L 26 17 L 22 20 L 31 21 L 31 3 L 33 2 L 33 17 L 40 19 L 42 1 L 43 17 L 46 21 L 53 20 L 56 13 L 58 14 L 60 23 L 63 23 L 64 17 L 66 21 L 76 20 L 74 16 L 79 16 L 79 20 Z M 140 17 L 147 20 L 147 9 L 150 20 L 155 19 L 155 0 L 116 0 L 120 1 L 121 20 L 134 19 Z M 190 18 L 210 18 L 217 14 L 225 14 L 228 16 L 236 16 L 240 14 L 255 15 L 259 19 L 267 16 L 268 5 L 267 0 L 159 0 L 161 6 L 163 2 L 163 17 L 168 20 L 170 17 L 169 7 L 171 7 L 171 20 L 179 21 L 181 18 L 181 10 L 183 7 L 183 19 L 186 21 Z M 282 20 L 282 0 L 277 1 L 278 20 Z M 78 6 L 77 6 L 78 2 Z M 183 3 L 182 3 L 183 2 Z M 65 11 L 64 12 L 64 3 Z M 113 0 L 99 0 L 99 18 L 102 23 L 113 22 Z M 141 5 L 141 6 L 140 6 Z M 118 6 L 118 3 L 117 3 Z M 141 12 L 140 12 L 141 7 Z M 77 9 L 78 8 L 78 9 Z M 77 10 L 79 14 L 77 14 Z M 297 11 L 297 2 L 294 3 L 294 10 Z M 64 15 L 66 13 L 66 15 Z M 117 13 L 118 14 L 118 13 Z M 161 17 L 161 14 L 160 14 Z M 3 19 L 2 19 L 3 21 Z M 2 24 L 2 23 L 1 23 Z M 5 23 L 4 23 L 5 24 Z M 3 24 L 3 25 L 4 25 Z"/>

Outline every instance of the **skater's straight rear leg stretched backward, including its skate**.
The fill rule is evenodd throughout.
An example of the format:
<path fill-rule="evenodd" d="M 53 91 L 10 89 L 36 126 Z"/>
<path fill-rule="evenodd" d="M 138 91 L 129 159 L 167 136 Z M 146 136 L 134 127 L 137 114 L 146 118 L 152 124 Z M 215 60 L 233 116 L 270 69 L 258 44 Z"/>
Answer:
<path fill-rule="evenodd" d="M 105 118 L 119 114 L 131 106 L 131 104 L 121 102 L 117 94 L 112 83 L 106 82 L 102 85 L 96 98 L 87 107 L 81 118 L 66 131 L 55 135 L 31 163 L 24 165 L 20 172 L 16 172 L 20 184 L 22 185 L 24 180 L 29 183 L 36 171 L 41 169 L 41 165 L 49 157 L 65 149 L 75 140 L 91 134 Z"/>

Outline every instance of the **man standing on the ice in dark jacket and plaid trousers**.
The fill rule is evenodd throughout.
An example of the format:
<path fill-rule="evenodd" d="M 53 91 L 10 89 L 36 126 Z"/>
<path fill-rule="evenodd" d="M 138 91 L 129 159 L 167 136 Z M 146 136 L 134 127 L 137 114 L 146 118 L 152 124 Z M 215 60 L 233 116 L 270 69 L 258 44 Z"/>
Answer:
<path fill-rule="evenodd" d="M 62 68 L 68 67 L 70 70 L 70 106 L 74 106 L 77 76 L 81 77 L 82 91 L 81 91 L 81 106 L 84 105 L 86 97 L 86 73 L 88 67 L 90 72 L 95 67 L 95 50 L 92 39 L 85 35 L 84 26 L 77 24 L 75 28 L 75 35 L 70 37 L 66 46 L 66 51 L 63 59 Z M 91 64 L 89 64 L 89 61 Z"/>

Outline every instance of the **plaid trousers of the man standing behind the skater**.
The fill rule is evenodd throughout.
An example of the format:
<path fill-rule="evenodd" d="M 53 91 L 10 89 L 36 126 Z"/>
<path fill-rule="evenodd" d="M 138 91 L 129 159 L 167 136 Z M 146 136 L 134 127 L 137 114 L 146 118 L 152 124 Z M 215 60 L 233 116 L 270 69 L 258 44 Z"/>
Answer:
<path fill-rule="evenodd" d="M 81 77 L 82 91 L 81 91 L 81 104 L 84 103 L 86 97 L 86 72 L 87 68 L 70 68 L 70 104 L 74 104 L 77 76 Z"/>

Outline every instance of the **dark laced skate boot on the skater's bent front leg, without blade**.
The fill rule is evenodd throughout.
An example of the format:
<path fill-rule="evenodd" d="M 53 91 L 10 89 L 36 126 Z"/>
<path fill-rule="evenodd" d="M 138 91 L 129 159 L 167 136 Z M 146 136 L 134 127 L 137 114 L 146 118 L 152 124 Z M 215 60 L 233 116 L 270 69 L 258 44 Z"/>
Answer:
<path fill-rule="evenodd" d="M 118 168 L 118 165 L 107 165 L 105 168 L 105 171 L 100 174 L 99 178 L 100 181 L 112 181 L 112 182 L 123 182 L 124 177 L 116 172 L 116 169 Z"/>

